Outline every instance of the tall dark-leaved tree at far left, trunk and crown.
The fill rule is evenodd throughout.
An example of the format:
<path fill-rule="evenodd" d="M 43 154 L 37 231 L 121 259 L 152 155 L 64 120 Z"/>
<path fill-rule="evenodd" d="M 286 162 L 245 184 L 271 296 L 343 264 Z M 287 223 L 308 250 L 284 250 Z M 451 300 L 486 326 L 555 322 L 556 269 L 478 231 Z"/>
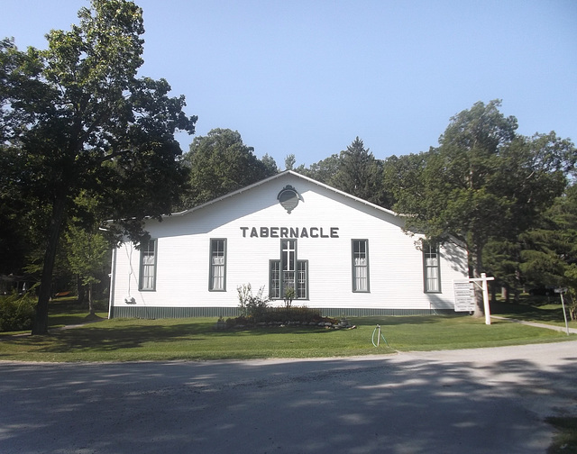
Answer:
<path fill-rule="evenodd" d="M 48 329 L 61 228 L 70 214 L 86 214 L 75 204 L 80 192 L 117 221 L 118 233 L 139 238 L 143 216 L 160 218 L 179 198 L 186 169 L 174 132 L 194 132 L 197 120 L 183 113 L 183 96 L 168 96 L 166 80 L 137 77 L 141 8 L 92 0 L 78 17 L 70 32 L 47 35 L 48 50 L 0 46 L 2 152 L 13 155 L 23 194 L 50 207 L 33 334 Z"/>

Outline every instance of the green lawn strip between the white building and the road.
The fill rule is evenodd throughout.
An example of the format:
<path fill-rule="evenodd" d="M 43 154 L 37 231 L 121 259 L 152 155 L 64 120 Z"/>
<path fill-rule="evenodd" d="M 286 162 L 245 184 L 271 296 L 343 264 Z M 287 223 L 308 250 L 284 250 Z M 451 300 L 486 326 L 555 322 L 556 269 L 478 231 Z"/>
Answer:
<path fill-rule="evenodd" d="M 543 309 L 548 311 L 548 309 Z M 388 354 L 408 350 L 452 350 L 497 347 L 566 340 L 552 330 L 468 315 L 350 318 L 354 330 L 318 327 L 274 327 L 215 331 L 214 318 L 113 319 L 96 313 L 100 322 L 87 323 L 87 310 L 71 300 L 57 300 L 50 307 L 46 336 L 0 335 L 0 360 L 16 361 L 135 361 L 264 358 L 327 358 Z M 516 313 L 518 318 L 518 313 Z M 372 345 L 377 324 L 387 342 Z M 13 334 L 13 335 L 8 335 Z M 376 338 L 375 338 L 376 341 Z"/>

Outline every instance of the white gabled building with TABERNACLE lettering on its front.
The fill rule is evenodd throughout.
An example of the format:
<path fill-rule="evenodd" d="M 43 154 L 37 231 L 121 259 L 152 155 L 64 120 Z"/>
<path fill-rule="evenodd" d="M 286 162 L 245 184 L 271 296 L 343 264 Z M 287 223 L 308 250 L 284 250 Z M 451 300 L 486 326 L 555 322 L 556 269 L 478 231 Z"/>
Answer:
<path fill-rule="evenodd" d="M 237 287 L 324 315 L 454 307 L 463 248 L 417 248 L 398 214 L 285 171 L 183 213 L 149 220 L 151 240 L 114 250 L 110 317 L 234 316 Z"/>

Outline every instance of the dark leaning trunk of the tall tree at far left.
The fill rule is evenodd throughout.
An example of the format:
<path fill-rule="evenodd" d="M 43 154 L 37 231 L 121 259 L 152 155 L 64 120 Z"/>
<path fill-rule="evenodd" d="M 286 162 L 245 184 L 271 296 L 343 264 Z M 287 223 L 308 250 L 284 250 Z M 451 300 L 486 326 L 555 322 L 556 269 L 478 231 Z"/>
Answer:
<path fill-rule="evenodd" d="M 48 332 L 48 302 L 50 301 L 52 272 L 56 261 L 56 251 L 60 240 L 60 230 L 66 213 L 66 197 L 59 196 L 52 205 L 52 216 L 48 231 L 48 242 L 44 253 L 44 263 L 40 281 L 40 292 L 38 294 L 38 304 L 36 304 L 36 315 L 32 323 L 32 335 L 46 334 Z"/>

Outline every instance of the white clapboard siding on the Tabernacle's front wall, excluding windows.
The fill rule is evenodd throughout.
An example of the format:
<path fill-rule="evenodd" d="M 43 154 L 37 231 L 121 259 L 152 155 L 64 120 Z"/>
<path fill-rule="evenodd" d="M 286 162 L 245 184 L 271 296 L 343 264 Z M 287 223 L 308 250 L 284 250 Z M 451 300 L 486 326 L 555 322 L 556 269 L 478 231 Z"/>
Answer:
<path fill-rule="evenodd" d="M 292 211 L 277 195 L 291 185 L 301 200 Z M 242 227 L 245 230 L 243 236 Z M 269 262 L 280 257 L 279 238 L 251 238 L 252 227 L 338 229 L 338 238 L 298 238 L 299 260 L 308 260 L 309 298 L 296 301 L 320 308 L 450 309 L 453 280 L 467 277 L 464 250 L 441 249 L 439 294 L 426 294 L 418 236 L 401 229 L 394 213 L 344 195 L 293 172 L 270 177 L 187 213 L 150 221 L 156 239 L 156 289 L 139 291 L 140 252 L 125 243 L 114 254 L 111 302 L 150 307 L 235 307 L 237 286 L 269 291 Z M 209 291 L 210 239 L 226 239 L 226 291 Z M 352 240 L 368 240 L 370 292 L 353 292 Z M 447 250 L 450 253 L 447 253 Z M 133 298 L 131 300 L 130 298 Z M 126 302 L 128 300 L 128 303 Z M 282 304 L 279 301 L 278 304 Z"/>

